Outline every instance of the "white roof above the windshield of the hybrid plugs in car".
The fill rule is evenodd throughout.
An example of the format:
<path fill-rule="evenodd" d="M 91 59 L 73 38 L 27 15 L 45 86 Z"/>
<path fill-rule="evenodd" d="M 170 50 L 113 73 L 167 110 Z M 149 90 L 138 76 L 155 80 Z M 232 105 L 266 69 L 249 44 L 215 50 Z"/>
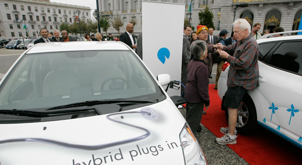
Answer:
<path fill-rule="evenodd" d="M 130 50 L 125 43 L 120 41 L 70 41 L 38 43 L 32 46 L 26 54 L 81 51 L 81 50 Z"/>

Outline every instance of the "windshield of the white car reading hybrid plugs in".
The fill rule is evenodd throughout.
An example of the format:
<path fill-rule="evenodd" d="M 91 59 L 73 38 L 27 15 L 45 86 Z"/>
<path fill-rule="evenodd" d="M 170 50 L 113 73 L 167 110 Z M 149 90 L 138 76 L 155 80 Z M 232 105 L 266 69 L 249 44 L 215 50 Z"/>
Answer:
<path fill-rule="evenodd" d="M 165 98 L 129 50 L 25 54 L 0 86 L 0 110 L 47 109 L 92 100 Z"/>

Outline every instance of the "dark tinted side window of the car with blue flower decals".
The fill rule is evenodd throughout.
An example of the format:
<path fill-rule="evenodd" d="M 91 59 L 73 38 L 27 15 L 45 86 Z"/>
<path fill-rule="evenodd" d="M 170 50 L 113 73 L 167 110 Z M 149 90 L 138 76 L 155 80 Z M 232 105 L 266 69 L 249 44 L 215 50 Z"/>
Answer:
<path fill-rule="evenodd" d="M 302 41 L 283 42 L 272 53 L 269 64 L 302 75 Z"/>

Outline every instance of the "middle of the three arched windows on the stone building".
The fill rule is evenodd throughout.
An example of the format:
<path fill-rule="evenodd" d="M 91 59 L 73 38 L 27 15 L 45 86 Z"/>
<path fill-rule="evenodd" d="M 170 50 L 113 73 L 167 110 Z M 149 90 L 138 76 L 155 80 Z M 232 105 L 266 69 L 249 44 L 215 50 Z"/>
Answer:
<path fill-rule="evenodd" d="M 268 29 L 273 33 L 273 29 L 280 26 L 281 12 L 279 10 L 270 10 L 265 16 L 264 30 Z"/>

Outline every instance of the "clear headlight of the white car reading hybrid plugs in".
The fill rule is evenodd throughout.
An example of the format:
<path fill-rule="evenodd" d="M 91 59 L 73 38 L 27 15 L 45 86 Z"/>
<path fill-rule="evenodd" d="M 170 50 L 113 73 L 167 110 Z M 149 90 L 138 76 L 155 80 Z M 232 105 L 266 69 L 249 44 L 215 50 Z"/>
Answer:
<path fill-rule="evenodd" d="M 185 124 L 180 132 L 179 139 L 184 154 L 185 165 L 207 165 L 199 143 L 188 124 Z"/>

